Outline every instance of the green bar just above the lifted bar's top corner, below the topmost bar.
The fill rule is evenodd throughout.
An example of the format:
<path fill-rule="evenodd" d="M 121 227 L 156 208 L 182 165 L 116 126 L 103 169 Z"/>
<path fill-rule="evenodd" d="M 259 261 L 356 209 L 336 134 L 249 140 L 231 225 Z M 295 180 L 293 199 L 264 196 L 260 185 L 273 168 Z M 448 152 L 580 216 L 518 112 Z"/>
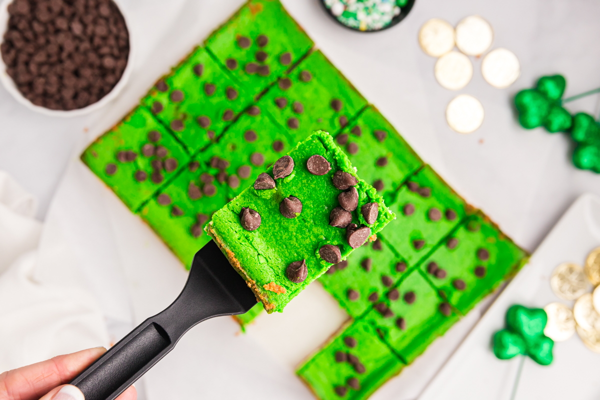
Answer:
<path fill-rule="evenodd" d="M 367 106 L 367 100 L 317 50 L 279 79 L 260 98 L 259 106 L 300 141 L 316 130 L 338 133 Z"/>

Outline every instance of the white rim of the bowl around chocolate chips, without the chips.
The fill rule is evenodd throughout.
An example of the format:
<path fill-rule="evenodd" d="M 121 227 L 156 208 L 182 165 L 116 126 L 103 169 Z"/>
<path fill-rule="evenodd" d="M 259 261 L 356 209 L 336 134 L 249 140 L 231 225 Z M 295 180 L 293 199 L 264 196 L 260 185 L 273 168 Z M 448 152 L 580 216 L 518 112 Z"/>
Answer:
<path fill-rule="evenodd" d="M 83 107 L 82 109 L 65 111 L 65 110 L 50 110 L 50 109 L 47 109 L 46 107 L 36 106 L 35 104 L 31 103 L 31 101 L 27 100 L 21 94 L 21 92 L 19 92 L 19 89 L 17 89 L 17 85 L 14 84 L 13 79 L 10 76 L 8 76 L 8 74 L 6 72 L 6 64 L 4 64 L 4 60 L 2 60 L 2 56 L 0 56 L 0 82 L 2 82 L 2 85 L 4 86 L 4 88 L 6 88 L 8 93 L 13 95 L 15 100 L 17 100 L 19 103 L 23 104 L 23 106 L 28 107 L 28 109 L 30 109 L 30 110 L 34 110 L 35 112 L 38 112 L 38 113 L 44 114 L 44 115 L 63 117 L 63 118 L 80 116 L 80 115 L 91 113 L 95 110 L 100 109 L 105 104 L 107 104 L 111 100 L 113 100 L 113 98 L 115 98 L 119 94 L 119 92 L 121 92 L 121 90 L 124 88 L 124 86 L 127 84 L 127 80 L 129 79 L 129 76 L 131 75 L 131 69 L 133 68 L 133 54 L 134 54 L 133 49 L 134 49 L 134 47 L 133 47 L 133 40 L 131 39 L 131 25 L 127 18 L 127 14 L 124 12 L 124 8 L 121 5 L 121 1 L 120 0 L 112 0 L 112 1 L 115 2 L 116 6 L 119 8 L 119 11 L 121 11 L 123 19 L 125 20 L 125 26 L 127 26 L 127 31 L 129 33 L 129 56 L 127 58 L 127 65 L 125 66 L 125 70 L 123 70 L 123 74 L 121 75 L 121 79 L 119 79 L 119 82 L 116 83 L 116 85 L 112 88 L 112 90 L 110 92 L 108 92 L 103 98 L 98 100 L 96 103 L 90 104 L 89 106 Z M 8 17 L 9 17 L 8 5 L 11 4 L 11 2 L 13 2 L 13 0 L 4 0 L 4 1 L 2 1 L 2 4 L 0 4 L 0 43 L 4 40 L 4 32 L 8 28 Z"/>

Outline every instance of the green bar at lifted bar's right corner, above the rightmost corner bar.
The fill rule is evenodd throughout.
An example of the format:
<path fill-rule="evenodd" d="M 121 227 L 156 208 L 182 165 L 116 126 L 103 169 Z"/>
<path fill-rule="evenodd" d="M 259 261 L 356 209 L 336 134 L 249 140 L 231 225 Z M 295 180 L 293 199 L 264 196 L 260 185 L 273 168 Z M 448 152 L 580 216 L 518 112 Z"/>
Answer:
<path fill-rule="evenodd" d="M 427 255 L 470 209 L 429 166 L 410 176 L 393 199 L 390 209 L 398 218 L 382 236 L 409 267 Z"/>

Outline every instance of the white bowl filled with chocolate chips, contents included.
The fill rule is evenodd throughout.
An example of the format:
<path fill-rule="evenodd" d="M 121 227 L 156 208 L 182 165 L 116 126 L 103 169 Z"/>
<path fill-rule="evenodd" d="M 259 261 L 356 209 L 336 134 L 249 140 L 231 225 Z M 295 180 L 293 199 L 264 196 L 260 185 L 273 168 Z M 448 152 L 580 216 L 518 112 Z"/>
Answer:
<path fill-rule="evenodd" d="M 133 65 L 121 10 L 113 0 L 5 0 L 0 81 L 46 115 L 99 109 L 118 95 Z"/>

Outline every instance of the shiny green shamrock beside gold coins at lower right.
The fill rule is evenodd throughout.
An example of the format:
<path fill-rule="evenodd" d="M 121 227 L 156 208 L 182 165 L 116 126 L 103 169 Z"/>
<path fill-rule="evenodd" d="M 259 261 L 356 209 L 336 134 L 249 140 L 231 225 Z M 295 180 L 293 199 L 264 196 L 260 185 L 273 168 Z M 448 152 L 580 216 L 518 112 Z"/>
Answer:
<path fill-rule="evenodd" d="M 549 365 L 554 341 L 544 335 L 547 321 L 548 315 L 541 308 L 512 306 L 506 312 L 506 329 L 494 334 L 494 354 L 501 360 L 523 354 Z"/>

